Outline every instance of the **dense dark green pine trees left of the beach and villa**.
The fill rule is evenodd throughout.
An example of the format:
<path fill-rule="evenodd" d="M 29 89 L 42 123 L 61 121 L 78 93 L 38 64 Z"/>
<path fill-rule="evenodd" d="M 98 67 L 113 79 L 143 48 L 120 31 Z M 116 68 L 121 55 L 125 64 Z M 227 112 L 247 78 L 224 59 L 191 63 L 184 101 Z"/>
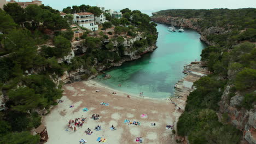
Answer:
<path fill-rule="evenodd" d="M 54 38 L 56 47 L 42 46 L 39 50 L 38 45 L 50 39 L 45 29 L 68 26 L 59 11 L 49 6 L 22 9 L 17 3 L 8 3 L 4 11 L 0 10 L 0 56 L 7 55 L 0 59 L 0 90 L 9 97 L 5 104 L 8 110 L 0 112 L 0 143 L 39 142 L 39 136 L 28 131 L 41 123 L 35 110 L 48 109 L 62 96 L 61 85 L 57 86 L 51 77 L 63 74 L 55 57 L 70 51 L 73 32 L 59 32 Z"/>

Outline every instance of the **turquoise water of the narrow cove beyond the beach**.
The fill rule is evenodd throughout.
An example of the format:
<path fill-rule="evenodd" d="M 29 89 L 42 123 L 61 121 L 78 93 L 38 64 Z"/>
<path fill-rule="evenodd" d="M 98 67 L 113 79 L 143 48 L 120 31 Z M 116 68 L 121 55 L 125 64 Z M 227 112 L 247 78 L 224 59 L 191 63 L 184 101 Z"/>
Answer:
<path fill-rule="evenodd" d="M 205 44 L 200 41 L 199 33 L 189 29 L 183 33 L 172 33 L 167 31 L 167 25 L 159 23 L 156 28 L 159 32 L 158 49 L 141 59 L 105 71 L 112 76 L 111 79 L 99 80 L 102 77 L 99 75 L 95 80 L 138 96 L 143 92 L 143 96 L 150 98 L 170 97 L 174 92 L 173 86 L 184 76 L 184 64 L 195 59 L 199 61 Z"/>

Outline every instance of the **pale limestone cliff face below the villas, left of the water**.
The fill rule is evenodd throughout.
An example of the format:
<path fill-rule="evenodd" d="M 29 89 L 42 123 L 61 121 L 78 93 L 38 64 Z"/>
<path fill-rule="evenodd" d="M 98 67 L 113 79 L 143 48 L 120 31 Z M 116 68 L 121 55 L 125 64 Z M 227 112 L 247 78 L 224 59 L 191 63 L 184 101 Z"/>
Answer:
<path fill-rule="evenodd" d="M 119 67 L 124 62 L 133 61 L 135 59 L 141 58 L 141 56 L 144 53 L 153 52 L 156 49 L 156 45 L 146 47 L 143 52 L 138 52 L 138 50 L 132 49 L 133 43 L 136 40 L 141 40 L 141 39 L 146 39 L 146 38 L 147 37 L 144 37 L 143 34 L 138 34 L 135 38 L 125 38 L 125 40 L 123 42 L 123 45 L 125 47 L 124 56 L 121 57 L 120 61 L 114 61 L 113 59 L 106 59 L 108 64 L 104 65 L 104 64 L 98 62 L 98 60 L 95 58 L 94 59 L 95 64 L 93 67 L 94 67 L 94 69 L 97 70 L 96 74 L 91 74 L 90 69 L 86 69 L 82 66 L 74 71 L 69 71 L 69 72 L 65 71 L 64 75 L 59 77 L 59 79 L 56 80 L 56 82 L 63 81 L 64 83 L 70 83 L 70 82 L 74 82 L 74 81 L 80 81 L 80 80 L 82 80 L 82 77 L 84 75 L 88 75 L 88 80 L 89 80 L 89 79 L 96 77 L 100 71 L 106 70 L 110 67 Z M 104 41 L 102 41 L 102 43 L 109 43 L 109 41 L 104 40 Z M 114 47 L 117 47 L 117 45 L 118 45 L 117 41 L 112 41 L 112 43 L 114 44 Z M 88 47 L 86 47 L 84 45 L 84 40 L 80 40 L 80 41 L 75 41 L 74 43 L 72 43 L 71 49 L 72 49 L 72 51 L 71 51 L 71 53 L 69 53 L 68 56 L 66 56 L 64 58 L 60 58 L 60 59 L 58 59 L 58 61 L 59 62 L 65 61 L 66 63 L 71 63 L 71 59 L 74 58 L 75 56 L 86 55 L 86 50 L 88 49 Z M 114 48 L 113 50 L 109 50 L 109 51 L 117 52 L 118 49 Z"/>

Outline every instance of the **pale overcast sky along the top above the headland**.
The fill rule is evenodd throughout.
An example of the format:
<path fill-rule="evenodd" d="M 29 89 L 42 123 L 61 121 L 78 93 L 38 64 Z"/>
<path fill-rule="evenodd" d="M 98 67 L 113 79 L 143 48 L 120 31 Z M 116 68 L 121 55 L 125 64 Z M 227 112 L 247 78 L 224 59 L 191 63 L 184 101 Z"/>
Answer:
<path fill-rule="evenodd" d="M 16 0 L 18 1 L 18 0 Z M 30 1 L 30 0 L 20 0 Z M 164 9 L 256 8 L 256 0 L 40 0 L 44 5 L 62 10 L 72 5 L 97 5 L 106 9 L 130 8 L 141 11 Z"/>

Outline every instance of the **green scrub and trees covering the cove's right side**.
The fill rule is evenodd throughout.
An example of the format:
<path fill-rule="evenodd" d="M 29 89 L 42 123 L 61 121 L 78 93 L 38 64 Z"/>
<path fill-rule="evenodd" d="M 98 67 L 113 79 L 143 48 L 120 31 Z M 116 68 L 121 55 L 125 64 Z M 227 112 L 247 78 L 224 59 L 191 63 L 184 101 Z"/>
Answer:
<path fill-rule="evenodd" d="M 188 136 L 189 143 L 239 143 L 242 132 L 230 124 L 230 113 L 224 113 L 220 123 L 216 112 L 227 85 L 231 86 L 228 100 L 240 93 L 243 97 L 238 109 L 251 110 L 255 105 L 256 9 L 177 9 L 162 10 L 157 16 L 190 19 L 201 32 L 219 27 L 219 32 L 207 35 L 212 45 L 206 47 L 201 60 L 213 74 L 194 83 L 187 105 L 177 123 L 177 133 Z M 226 101 L 229 104 L 229 101 Z"/>

